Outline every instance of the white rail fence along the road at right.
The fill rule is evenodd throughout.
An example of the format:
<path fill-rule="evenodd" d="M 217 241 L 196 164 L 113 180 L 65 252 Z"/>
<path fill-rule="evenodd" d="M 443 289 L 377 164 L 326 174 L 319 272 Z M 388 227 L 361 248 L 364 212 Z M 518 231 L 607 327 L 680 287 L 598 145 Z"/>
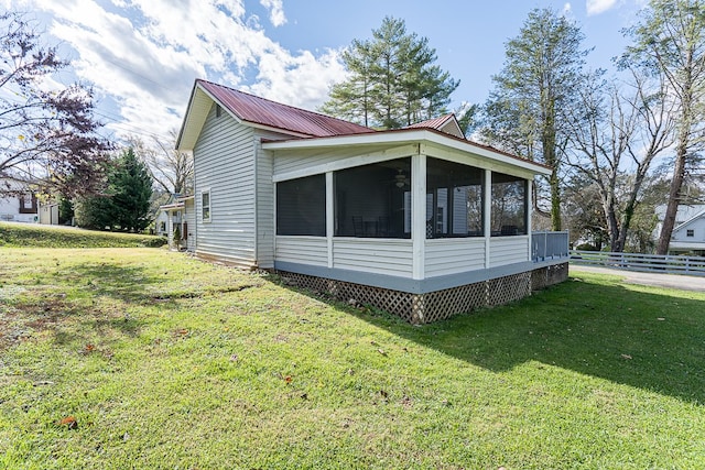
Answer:
<path fill-rule="evenodd" d="M 705 256 L 571 250 L 571 264 L 663 274 L 705 276 Z"/>

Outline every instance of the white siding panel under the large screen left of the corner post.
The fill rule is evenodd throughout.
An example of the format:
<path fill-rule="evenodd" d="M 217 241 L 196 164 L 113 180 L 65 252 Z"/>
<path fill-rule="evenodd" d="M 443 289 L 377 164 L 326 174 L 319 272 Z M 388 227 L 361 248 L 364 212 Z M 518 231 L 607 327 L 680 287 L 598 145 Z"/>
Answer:
<path fill-rule="evenodd" d="M 333 240 L 333 266 L 341 270 L 410 277 L 411 240 L 346 239 Z"/>

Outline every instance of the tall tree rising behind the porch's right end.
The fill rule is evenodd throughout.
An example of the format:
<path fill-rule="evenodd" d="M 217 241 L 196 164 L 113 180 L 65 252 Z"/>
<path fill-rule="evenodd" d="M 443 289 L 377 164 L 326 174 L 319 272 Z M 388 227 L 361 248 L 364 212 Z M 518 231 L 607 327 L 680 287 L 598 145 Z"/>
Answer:
<path fill-rule="evenodd" d="M 574 107 L 584 57 L 579 28 L 551 9 L 529 13 L 507 43 L 505 66 L 492 77 L 484 136 L 492 145 L 551 166 L 551 226 L 561 230 L 564 112 Z"/>

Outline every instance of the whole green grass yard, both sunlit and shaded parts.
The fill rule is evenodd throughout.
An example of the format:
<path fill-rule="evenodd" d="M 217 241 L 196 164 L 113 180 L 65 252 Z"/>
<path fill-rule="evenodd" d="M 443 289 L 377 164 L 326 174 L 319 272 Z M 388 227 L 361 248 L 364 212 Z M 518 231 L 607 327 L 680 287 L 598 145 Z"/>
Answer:
<path fill-rule="evenodd" d="M 0 248 L 0 468 L 701 469 L 705 293 L 431 326 L 184 254 Z"/>

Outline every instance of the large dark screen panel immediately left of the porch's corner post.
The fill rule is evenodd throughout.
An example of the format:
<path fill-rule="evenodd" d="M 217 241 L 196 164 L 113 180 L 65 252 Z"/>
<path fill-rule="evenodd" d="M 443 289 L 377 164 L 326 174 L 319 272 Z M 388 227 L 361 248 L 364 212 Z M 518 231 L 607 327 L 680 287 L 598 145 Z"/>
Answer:
<path fill-rule="evenodd" d="M 335 172 L 335 236 L 411 237 L 411 159 Z"/>

